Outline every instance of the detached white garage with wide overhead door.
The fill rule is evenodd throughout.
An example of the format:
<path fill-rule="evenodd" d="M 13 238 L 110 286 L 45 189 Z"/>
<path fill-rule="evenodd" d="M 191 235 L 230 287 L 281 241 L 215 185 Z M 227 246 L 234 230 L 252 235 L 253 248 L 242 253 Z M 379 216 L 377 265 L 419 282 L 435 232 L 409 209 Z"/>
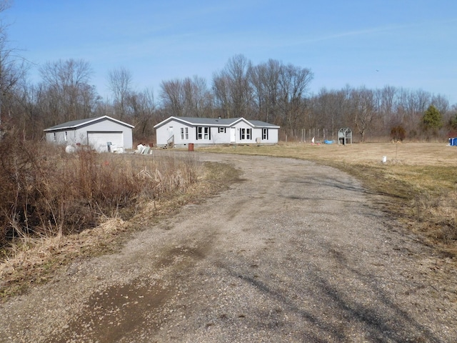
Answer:
<path fill-rule="evenodd" d="M 132 149 L 133 125 L 110 116 L 67 121 L 45 129 L 46 141 L 65 145 L 89 145 L 99 152 Z"/>

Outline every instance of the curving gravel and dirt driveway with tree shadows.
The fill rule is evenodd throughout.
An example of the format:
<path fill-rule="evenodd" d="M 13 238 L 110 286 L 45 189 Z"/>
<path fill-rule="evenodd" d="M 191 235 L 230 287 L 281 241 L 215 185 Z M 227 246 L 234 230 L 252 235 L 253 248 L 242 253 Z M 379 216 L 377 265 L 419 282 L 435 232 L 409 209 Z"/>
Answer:
<path fill-rule="evenodd" d="M 347 174 L 199 154 L 243 182 L 0 305 L 1 342 L 457 342 L 455 261 Z"/>

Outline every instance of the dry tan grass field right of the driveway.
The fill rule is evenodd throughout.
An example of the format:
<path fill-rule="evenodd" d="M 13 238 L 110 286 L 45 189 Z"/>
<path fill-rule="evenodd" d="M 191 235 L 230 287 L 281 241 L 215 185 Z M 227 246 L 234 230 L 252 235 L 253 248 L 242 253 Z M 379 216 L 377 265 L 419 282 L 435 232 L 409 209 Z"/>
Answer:
<path fill-rule="evenodd" d="M 386 212 L 443 251 L 457 254 L 457 147 L 444 143 L 223 146 L 204 149 L 307 159 L 363 182 Z M 386 156 L 386 161 L 383 161 Z"/>

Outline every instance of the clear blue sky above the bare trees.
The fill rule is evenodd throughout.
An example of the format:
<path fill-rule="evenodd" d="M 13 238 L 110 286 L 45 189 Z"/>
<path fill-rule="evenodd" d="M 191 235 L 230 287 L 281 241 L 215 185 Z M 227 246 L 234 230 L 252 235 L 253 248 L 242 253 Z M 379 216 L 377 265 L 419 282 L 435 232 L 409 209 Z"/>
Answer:
<path fill-rule="evenodd" d="M 157 96 L 162 80 L 197 75 L 210 86 L 243 54 L 311 69 L 312 93 L 390 85 L 457 103 L 455 0 L 16 0 L 4 16 L 33 81 L 46 61 L 84 59 L 102 96 L 119 67 Z"/>

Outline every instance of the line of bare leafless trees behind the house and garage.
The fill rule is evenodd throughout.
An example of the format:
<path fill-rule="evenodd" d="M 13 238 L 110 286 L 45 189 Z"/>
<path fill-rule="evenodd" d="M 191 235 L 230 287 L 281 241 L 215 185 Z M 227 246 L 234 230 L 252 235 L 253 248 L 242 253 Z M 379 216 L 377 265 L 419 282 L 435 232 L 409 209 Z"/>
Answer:
<path fill-rule="evenodd" d="M 6 3 L 1 4 L 4 11 Z M 110 99 L 91 85 L 88 61 L 49 61 L 39 66 L 35 84 L 27 79 L 29 68 L 9 48 L 5 26 L 0 26 L 1 124 L 16 127 L 26 139 L 42 139 L 44 129 L 65 121 L 102 115 L 133 124 L 136 140 L 152 139 L 154 124 L 168 116 L 243 116 L 279 125 L 281 137 L 292 139 L 300 139 L 298 132 L 307 128 L 335 132 L 349 127 L 360 141 L 367 135 L 431 139 L 457 134 L 457 104 L 451 106 L 440 94 L 349 85 L 311 94 L 311 69 L 276 59 L 253 64 L 235 55 L 210 81 L 199 76 L 161 81 L 157 101 L 153 89 L 133 88 L 133 75 L 125 67 L 106 76 Z M 430 111 L 432 121 L 426 117 Z"/>

